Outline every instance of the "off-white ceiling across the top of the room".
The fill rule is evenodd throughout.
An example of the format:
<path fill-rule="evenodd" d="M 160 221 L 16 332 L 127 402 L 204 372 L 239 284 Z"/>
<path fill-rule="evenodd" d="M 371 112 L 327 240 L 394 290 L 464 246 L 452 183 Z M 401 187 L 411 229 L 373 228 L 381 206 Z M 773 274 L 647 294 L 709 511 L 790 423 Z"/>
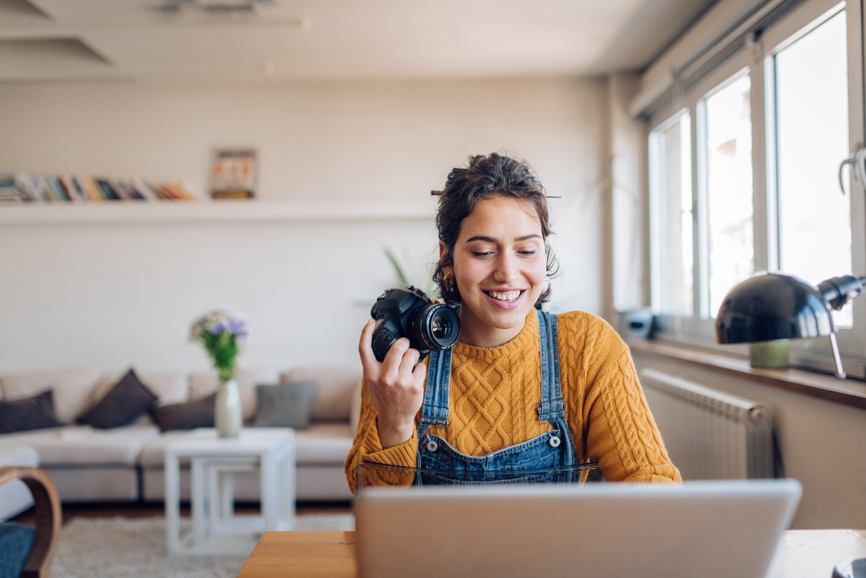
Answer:
<path fill-rule="evenodd" d="M 0 0 L 0 81 L 596 75 L 645 67 L 713 3 L 271 0 L 219 19 L 172 1 Z"/>

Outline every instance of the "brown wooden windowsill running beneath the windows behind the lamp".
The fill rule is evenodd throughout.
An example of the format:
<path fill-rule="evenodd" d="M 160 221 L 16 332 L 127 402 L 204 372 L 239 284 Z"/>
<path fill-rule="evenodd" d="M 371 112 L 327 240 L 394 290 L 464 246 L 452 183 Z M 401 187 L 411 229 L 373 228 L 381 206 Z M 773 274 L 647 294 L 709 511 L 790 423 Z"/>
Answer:
<path fill-rule="evenodd" d="M 748 360 L 659 341 L 629 341 L 629 347 L 637 354 L 685 361 L 746 380 L 757 381 L 766 386 L 835 401 L 844 406 L 866 409 L 866 383 L 863 381 L 839 380 L 832 375 L 802 369 L 755 369 L 749 366 Z"/>

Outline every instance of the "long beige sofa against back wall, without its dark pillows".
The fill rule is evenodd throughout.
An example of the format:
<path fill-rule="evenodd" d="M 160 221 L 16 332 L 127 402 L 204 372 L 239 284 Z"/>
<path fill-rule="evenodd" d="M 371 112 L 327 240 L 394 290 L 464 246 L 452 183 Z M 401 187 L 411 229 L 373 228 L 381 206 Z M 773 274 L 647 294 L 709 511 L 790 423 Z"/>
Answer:
<path fill-rule="evenodd" d="M 158 396 L 159 405 L 206 397 L 218 383 L 216 373 L 136 373 Z M 279 376 L 266 370 L 241 371 L 236 376 L 248 422 L 255 417 L 256 384 L 278 380 L 317 382 L 312 423 L 295 432 L 298 500 L 352 498 L 343 462 L 358 425 L 360 374 L 360 367 L 298 367 Z M 32 462 L 38 457 L 38 465 L 52 477 L 64 502 L 162 500 L 165 443 L 187 432 L 159 432 L 146 417 L 110 430 L 74 425 L 74 419 L 104 396 L 119 378 L 100 376 L 93 367 L 0 375 L 0 399 L 23 399 L 53 389 L 55 414 L 65 424 L 0 434 L 0 464 L 17 460 L 23 465 L 36 465 Z M 14 488 L 5 490 L 4 486 L 0 490 L 11 492 L 9 499 L 0 494 L 3 510 L 28 507 L 19 503 L 23 495 L 16 498 Z M 188 495 L 188 472 L 182 471 L 181 491 Z M 258 499 L 255 474 L 236 480 L 236 497 Z"/>

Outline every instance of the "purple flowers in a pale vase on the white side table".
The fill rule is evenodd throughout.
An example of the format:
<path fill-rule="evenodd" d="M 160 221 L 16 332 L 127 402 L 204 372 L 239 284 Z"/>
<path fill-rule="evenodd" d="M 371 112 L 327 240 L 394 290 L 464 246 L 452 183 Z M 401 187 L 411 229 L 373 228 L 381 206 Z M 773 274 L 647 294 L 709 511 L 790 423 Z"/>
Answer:
<path fill-rule="evenodd" d="M 247 320 L 229 307 L 211 309 L 192 321 L 190 341 L 197 341 L 210 354 L 219 371 L 214 423 L 221 438 L 234 438 L 241 432 L 243 412 L 241 393 L 235 377 L 235 360 L 249 339 Z"/>

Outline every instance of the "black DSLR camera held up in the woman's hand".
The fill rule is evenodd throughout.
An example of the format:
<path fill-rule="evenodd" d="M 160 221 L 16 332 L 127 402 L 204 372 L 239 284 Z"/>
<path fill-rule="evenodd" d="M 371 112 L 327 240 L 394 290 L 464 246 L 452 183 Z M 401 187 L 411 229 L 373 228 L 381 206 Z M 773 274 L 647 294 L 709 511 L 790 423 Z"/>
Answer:
<path fill-rule="evenodd" d="M 431 349 L 454 347 L 460 337 L 460 318 L 455 308 L 431 302 L 421 289 L 411 285 L 404 289 L 385 289 L 370 310 L 376 320 L 372 349 L 381 363 L 385 354 L 401 337 L 409 338 L 410 347 L 421 353 Z"/>

